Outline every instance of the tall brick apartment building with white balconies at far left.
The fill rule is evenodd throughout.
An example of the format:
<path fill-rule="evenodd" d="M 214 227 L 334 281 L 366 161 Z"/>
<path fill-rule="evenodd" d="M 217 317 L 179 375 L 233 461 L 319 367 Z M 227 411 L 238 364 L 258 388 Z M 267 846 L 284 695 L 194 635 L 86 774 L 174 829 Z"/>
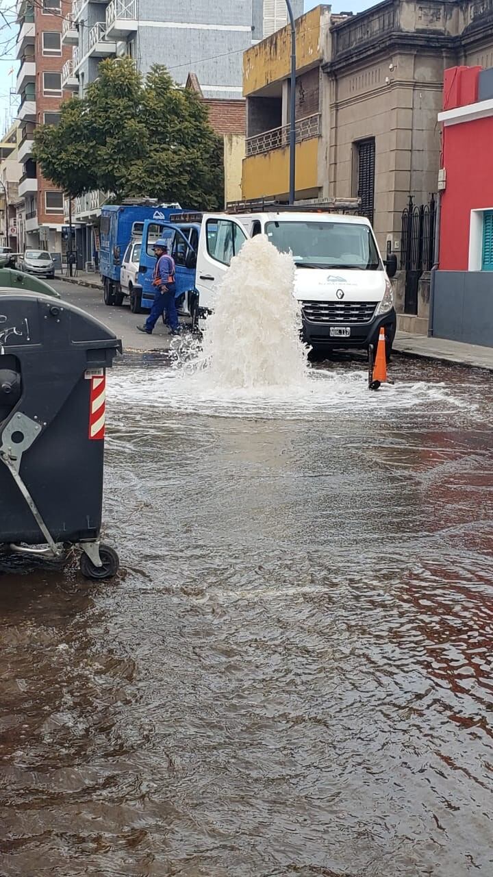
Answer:
<path fill-rule="evenodd" d="M 61 252 L 63 195 L 41 175 L 32 158 L 32 146 L 36 125 L 56 125 L 61 100 L 67 96 L 61 68 L 69 50 L 62 46 L 61 25 L 68 6 L 68 0 L 21 0 L 18 4 L 18 160 L 22 165 L 18 195 L 24 200 L 24 210 L 19 210 L 23 217 L 19 249 L 32 246 Z"/>

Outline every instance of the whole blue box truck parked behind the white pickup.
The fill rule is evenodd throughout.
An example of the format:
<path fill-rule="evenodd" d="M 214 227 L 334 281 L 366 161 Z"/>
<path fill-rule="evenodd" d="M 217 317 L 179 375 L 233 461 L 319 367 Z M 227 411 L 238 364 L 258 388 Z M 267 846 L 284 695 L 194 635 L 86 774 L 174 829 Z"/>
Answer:
<path fill-rule="evenodd" d="M 146 220 L 166 222 L 177 210 L 180 210 L 179 204 L 124 203 L 103 207 L 99 230 L 99 272 L 105 304 L 123 303 L 125 292 L 120 284 L 123 258 L 132 239 L 142 237 Z"/>

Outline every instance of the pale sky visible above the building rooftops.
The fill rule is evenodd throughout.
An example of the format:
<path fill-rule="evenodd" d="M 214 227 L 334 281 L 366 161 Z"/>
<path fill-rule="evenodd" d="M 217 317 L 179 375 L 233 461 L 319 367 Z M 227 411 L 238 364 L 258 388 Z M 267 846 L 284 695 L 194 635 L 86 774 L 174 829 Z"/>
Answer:
<path fill-rule="evenodd" d="M 369 0 L 332 0 L 331 5 L 333 12 L 361 12 L 376 2 L 377 0 L 373 3 Z M 313 9 L 319 3 L 320 0 L 304 0 L 304 11 Z M 18 73 L 18 61 L 15 57 L 17 28 L 14 22 L 15 0 L 0 0 L 0 133 L 7 129 L 9 118 L 15 117 L 18 105 L 16 98 L 10 96 L 10 90 L 15 89 Z"/>

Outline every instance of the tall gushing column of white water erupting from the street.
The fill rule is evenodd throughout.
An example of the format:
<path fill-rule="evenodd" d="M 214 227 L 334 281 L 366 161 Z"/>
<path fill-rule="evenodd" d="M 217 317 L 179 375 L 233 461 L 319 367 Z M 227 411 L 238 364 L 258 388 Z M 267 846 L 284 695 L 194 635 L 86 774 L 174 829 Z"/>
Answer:
<path fill-rule="evenodd" d="M 297 388 L 308 381 L 295 265 L 267 238 L 247 240 L 218 287 L 204 332 L 204 380 L 226 389 Z"/>

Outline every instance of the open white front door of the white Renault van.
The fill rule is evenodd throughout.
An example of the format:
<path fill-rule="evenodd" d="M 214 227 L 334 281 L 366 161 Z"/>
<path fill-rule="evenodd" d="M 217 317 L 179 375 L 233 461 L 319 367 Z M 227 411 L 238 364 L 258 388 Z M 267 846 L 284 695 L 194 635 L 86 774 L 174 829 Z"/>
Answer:
<path fill-rule="evenodd" d="M 201 308 L 212 310 L 218 282 L 246 240 L 247 232 L 238 219 L 225 213 L 204 215 L 196 260 L 196 289 Z"/>

